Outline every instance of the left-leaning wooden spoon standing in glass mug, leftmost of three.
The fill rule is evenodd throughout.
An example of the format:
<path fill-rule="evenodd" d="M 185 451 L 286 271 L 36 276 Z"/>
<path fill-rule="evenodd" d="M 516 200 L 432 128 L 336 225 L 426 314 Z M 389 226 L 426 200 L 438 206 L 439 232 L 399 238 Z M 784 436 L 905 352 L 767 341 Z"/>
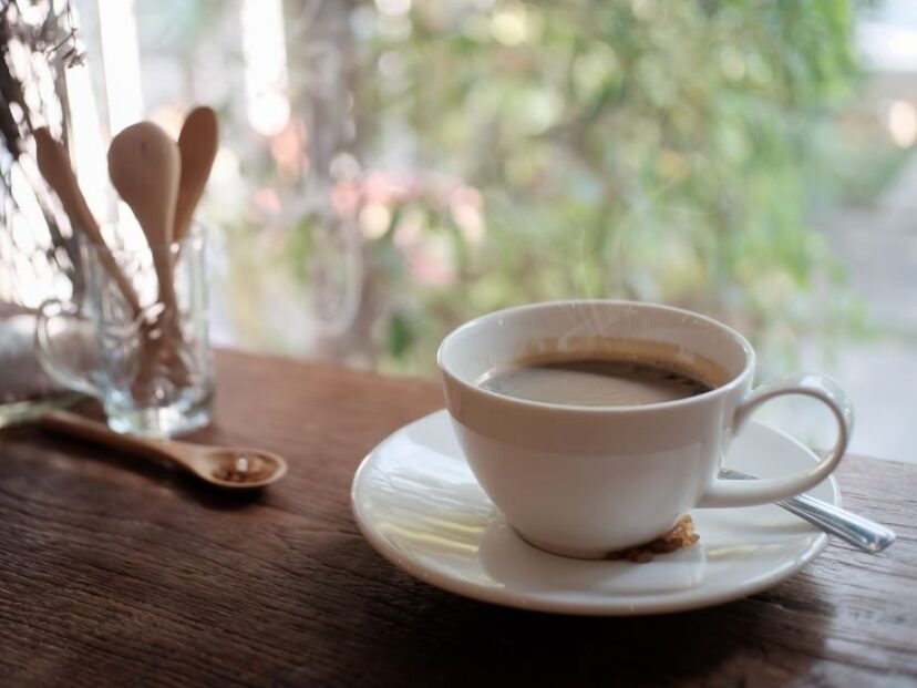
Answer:
<path fill-rule="evenodd" d="M 92 210 L 90 210 L 89 204 L 86 204 L 86 199 L 80 191 L 73 168 L 70 166 L 70 155 L 68 155 L 66 148 L 54 141 L 51 132 L 44 126 L 37 129 L 33 133 L 35 137 L 35 158 L 41 176 L 44 177 L 44 181 L 61 199 L 61 205 L 63 205 L 64 212 L 70 217 L 70 224 L 74 232 L 85 234 L 95 246 L 102 267 L 117 285 L 124 300 L 127 302 L 127 307 L 131 309 L 132 317 L 136 319 L 141 315 L 137 295 L 124 273 L 121 271 L 121 267 L 112 256 L 112 251 L 105 245 L 105 239 L 102 238 L 99 223 L 95 222 L 95 217 L 93 217 Z"/>

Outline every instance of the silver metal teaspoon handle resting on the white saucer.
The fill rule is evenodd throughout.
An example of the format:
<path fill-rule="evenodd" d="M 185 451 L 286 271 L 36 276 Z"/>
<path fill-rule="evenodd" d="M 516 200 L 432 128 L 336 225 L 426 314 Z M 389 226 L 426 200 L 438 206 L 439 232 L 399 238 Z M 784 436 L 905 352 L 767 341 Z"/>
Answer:
<path fill-rule="evenodd" d="M 733 469 L 722 469 L 720 475 L 727 479 L 754 480 L 753 476 Z M 880 523 L 858 516 L 807 494 L 781 500 L 776 502 L 776 505 L 864 552 L 878 554 L 895 542 L 895 533 Z"/>

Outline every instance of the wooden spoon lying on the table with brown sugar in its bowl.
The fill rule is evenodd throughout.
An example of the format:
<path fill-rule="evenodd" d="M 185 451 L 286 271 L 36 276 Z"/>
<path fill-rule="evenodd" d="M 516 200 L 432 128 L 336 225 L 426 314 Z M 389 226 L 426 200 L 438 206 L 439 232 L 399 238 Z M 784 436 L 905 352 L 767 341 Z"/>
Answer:
<path fill-rule="evenodd" d="M 204 446 L 175 440 L 119 434 L 107 425 L 69 411 L 52 411 L 41 425 L 55 432 L 177 465 L 200 480 L 229 490 L 264 487 L 284 478 L 287 462 L 261 449 Z"/>

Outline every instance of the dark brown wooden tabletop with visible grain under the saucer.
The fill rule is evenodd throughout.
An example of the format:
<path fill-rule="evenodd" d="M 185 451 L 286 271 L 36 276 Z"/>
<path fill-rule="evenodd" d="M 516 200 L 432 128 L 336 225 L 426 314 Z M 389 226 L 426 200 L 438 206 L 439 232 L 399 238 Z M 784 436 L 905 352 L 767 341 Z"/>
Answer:
<path fill-rule="evenodd" d="M 196 439 L 289 461 L 256 497 L 0 433 L 0 685 L 917 685 L 917 465 L 841 470 L 846 505 L 898 532 L 880 556 L 833 542 L 741 602 L 552 616 L 429 587 L 358 534 L 353 471 L 436 384 L 223 352 L 218 390 Z"/>

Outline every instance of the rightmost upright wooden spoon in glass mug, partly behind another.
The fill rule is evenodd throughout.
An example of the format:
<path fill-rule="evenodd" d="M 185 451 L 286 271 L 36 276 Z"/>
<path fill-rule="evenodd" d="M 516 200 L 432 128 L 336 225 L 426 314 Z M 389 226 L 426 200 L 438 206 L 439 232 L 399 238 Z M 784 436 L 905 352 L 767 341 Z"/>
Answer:
<path fill-rule="evenodd" d="M 188 234 L 194 210 L 210 176 L 218 144 L 216 113 L 206 106 L 192 110 L 178 134 L 182 173 L 178 183 L 178 201 L 175 206 L 173 240 L 176 243 Z"/>

